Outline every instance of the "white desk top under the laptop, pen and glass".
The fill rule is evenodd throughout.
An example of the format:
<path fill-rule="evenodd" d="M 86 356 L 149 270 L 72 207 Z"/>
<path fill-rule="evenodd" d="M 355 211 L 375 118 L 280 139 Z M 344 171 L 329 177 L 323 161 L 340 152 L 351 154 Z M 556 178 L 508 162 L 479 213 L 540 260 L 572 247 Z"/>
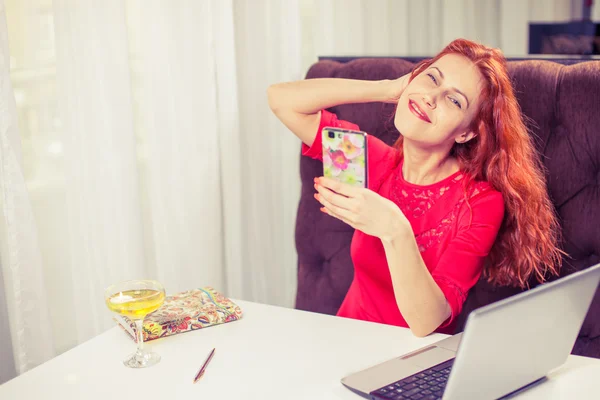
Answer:
<path fill-rule="evenodd" d="M 2 400 L 348 399 L 343 376 L 444 338 L 404 328 L 236 301 L 240 321 L 147 344 L 148 369 L 124 367 L 135 349 L 118 327 L 0 386 Z M 204 377 L 192 379 L 216 347 Z M 519 399 L 598 399 L 600 360 L 569 357 Z"/>

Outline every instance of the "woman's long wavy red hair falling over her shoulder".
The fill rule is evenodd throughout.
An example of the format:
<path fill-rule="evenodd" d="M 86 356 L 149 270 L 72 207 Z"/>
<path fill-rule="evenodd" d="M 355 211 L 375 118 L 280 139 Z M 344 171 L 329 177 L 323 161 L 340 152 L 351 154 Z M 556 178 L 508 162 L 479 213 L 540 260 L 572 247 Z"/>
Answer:
<path fill-rule="evenodd" d="M 457 39 L 437 56 L 414 68 L 411 80 L 446 54 L 462 55 L 478 67 L 484 79 L 482 101 L 471 129 L 476 136 L 456 143 L 456 157 L 465 179 L 483 180 L 502 193 L 504 220 L 484 268 L 495 285 L 529 287 L 531 278 L 543 282 L 557 275 L 561 255 L 557 246 L 559 224 L 546 190 L 543 165 L 508 75 L 506 59 L 498 49 Z M 396 142 L 402 151 L 402 136 Z"/>

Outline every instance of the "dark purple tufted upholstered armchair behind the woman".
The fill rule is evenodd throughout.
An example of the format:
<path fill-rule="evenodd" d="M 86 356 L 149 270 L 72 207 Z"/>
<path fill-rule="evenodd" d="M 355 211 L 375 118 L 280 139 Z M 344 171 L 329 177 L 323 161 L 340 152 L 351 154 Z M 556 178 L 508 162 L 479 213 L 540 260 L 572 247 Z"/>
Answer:
<path fill-rule="evenodd" d="M 320 60 L 307 79 L 338 77 L 393 79 L 409 72 L 417 59 Z M 600 61 L 511 60 L 518 100 L 535 135 L 548 171 L 548 190 L 562 224 L 566 258 L 562 275 L 600 262 Z M 333 107 L 341 119 L 388 144 L 398 137 L 393 105 L 370 103 Z M 335 314 L 353 277 L 350 241 L 353 230 L 319 212 L 313 178 L 322 163 L 302 157 L 302 192 L 296 222 L 298 292 L 296 308 Z M 470 291 L 459 317 L 462 330 L 475 308 L 516 294 L 483 279 Z M 600 290 L 583 324 L 573 354 L 600 358 Z"/>

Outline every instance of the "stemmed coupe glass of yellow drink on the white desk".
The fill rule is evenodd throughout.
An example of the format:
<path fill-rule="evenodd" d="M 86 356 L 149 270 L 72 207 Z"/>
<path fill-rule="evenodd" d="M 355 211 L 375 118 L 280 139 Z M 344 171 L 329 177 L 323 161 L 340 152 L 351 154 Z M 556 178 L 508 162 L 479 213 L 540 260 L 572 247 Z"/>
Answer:
<path fill-rule="evenodd" d="M 132 280 L 109 286 L 104 300 L 111 311 L 135 322 L 137 351 L 123 361 L 130 368 L 145 368 L 160 361 L 160 356 L 144 350 L 144 317 L 156 311 L 165 301 L 165 289 L 152 280 Z"/>

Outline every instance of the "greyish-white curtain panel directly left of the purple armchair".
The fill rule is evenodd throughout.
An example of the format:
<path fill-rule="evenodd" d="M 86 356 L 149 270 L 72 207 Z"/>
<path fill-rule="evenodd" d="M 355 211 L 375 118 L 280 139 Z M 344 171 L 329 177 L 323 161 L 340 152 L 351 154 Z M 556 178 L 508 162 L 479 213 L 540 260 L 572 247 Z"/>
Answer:
<path fill-rule="evenodd" d="M 300 142 L 270 113 L 266 89 L 302 79 L 298 0 L 234 2 L 240 98 L 245 295 L 293 305 Z M 225 186 L 229 183 L 224 182 Z"/>

